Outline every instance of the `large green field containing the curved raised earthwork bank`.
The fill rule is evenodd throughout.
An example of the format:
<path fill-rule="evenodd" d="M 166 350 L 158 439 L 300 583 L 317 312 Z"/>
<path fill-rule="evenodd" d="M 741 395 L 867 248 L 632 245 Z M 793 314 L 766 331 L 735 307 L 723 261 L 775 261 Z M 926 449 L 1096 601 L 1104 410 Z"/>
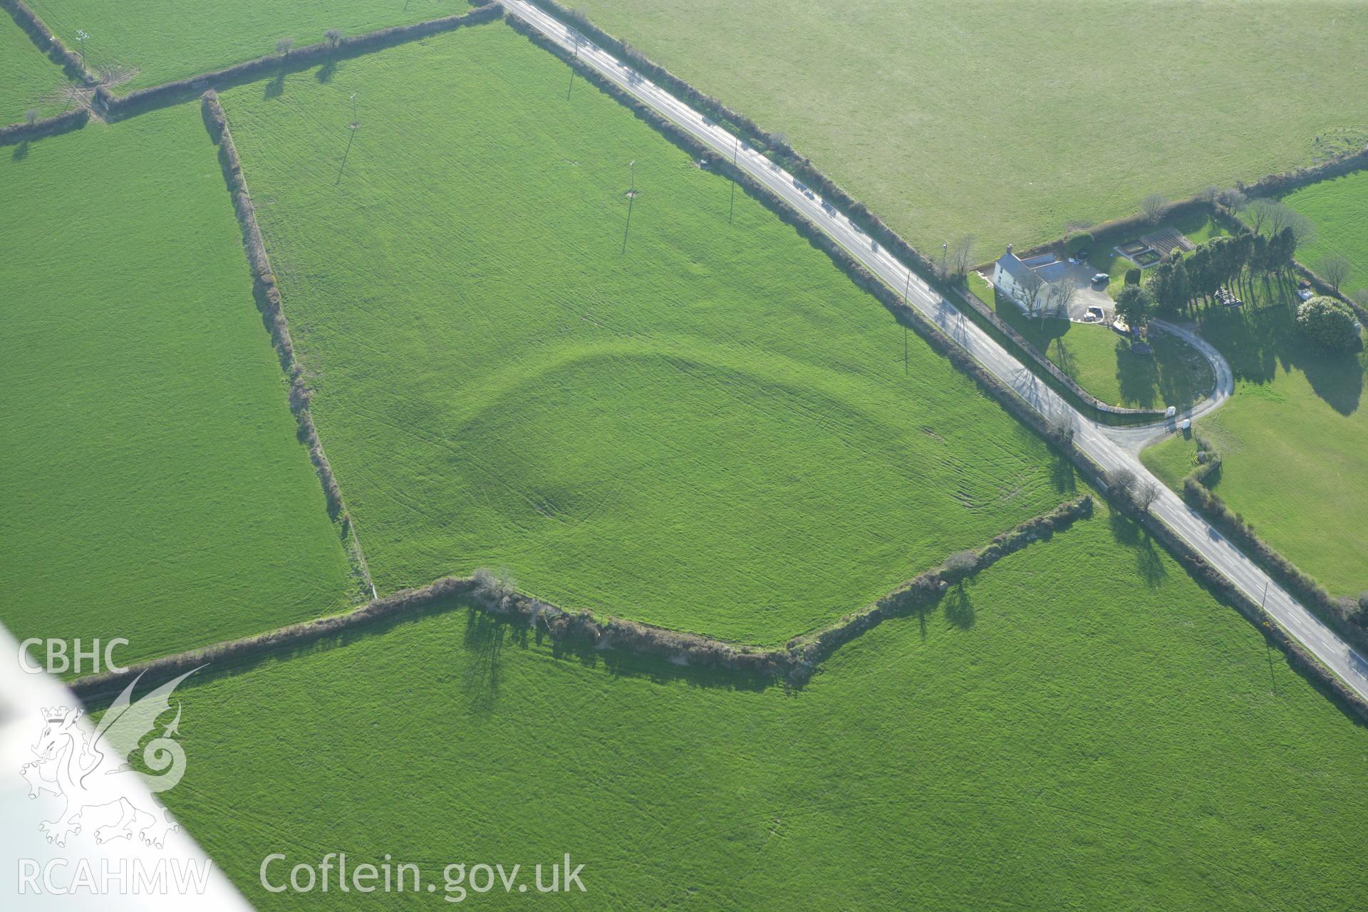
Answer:
<path fill-rule="evenodd" d="M 487 566 L 772 644 L 1059 500 L 825 254 L 569 78 L 488 25 L 223 94 L 382 591 Z"/>

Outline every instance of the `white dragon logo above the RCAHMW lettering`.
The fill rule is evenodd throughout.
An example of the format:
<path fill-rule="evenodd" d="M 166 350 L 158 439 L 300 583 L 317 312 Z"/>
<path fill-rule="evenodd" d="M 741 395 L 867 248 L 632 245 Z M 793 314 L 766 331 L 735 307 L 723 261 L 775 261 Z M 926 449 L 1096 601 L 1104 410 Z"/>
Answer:
<path fill-rule="evenodd" d="M 160 805 L 150 812 L 134 807 L 124 794 L 124 777 L 137 775 L 152 792 L 166 792 L 185 775 L 185 749 L 175 740 L 181 725 L 179 703 L 175 719 L 142 748 L 142 763 L 152 773 L 134 770 L 127 759 L 156 727 L 157 718 L 171 708 L 171 692 L 196 671 L 198 669 L 192 669 L 130 703 L 133 688 L 142 680 L 140 674 L 105 711 L 94 737 L 89 740 L 85 729 L 77 725 L 82 712 L 79 708 L 44 710 L 42 734 L 33 745 L 38 759 L 25 763 L 19 773 L 29 782 L 30 799 L 37 799 L 40 792 L 66 799 L 62 814 L 38 826 L 48 834 L 48 842 L 64 846 L 70 837 L 79 835 L 82 827 L 93 827 L 96 842 L 131 841 L 137 835 L 145 845 L 160 849 L 167 834 L 181 829 Z"/>

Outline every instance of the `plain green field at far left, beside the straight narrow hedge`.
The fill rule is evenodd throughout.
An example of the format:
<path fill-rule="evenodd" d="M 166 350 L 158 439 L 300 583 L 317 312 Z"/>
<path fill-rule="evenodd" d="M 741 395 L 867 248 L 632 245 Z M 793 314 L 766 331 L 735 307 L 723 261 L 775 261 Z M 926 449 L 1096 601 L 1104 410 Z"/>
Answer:
<path fill-rule="evenodd" d="M 198 111 L 0 155 L 0 619 L 119 660 L 353 591 Z"/>

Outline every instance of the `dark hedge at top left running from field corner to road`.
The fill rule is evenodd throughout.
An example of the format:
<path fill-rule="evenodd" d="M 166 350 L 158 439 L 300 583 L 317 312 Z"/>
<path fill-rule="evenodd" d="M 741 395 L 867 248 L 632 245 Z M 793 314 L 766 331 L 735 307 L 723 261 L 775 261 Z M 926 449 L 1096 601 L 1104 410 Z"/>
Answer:
<path fill-rule="evenodd" d="M 4 0 L 0 0 L 4 1 Z M 488 3 L 477 10 L 471 10 L 462 15 L 430 19 L 409 26 L 394 26 L 379 29 L 367 34 L 342 38 L 335 46 L 327 42 L 311 44 L 297 48 L 286 55 L 268 53 L 246 63 L 238 63 L 223 70 L 201 72 L 189 79 L 164 82 L 149 89 L 138 89 L 126 96 L 116 96 L 105 86 L 96 89 L 96 100 L 109 112 L 109 116 L 120 118 L 131 113 L 160 108 L 176 101 L 185 101 L 198 96 L 205 89 L 223 90 L 244 82 L 254 82 L 275 72 L 293 72 L 313 64 L 345 60 L 363 53 L 369 53 L 380 48 L 387 48 L 408 41 L 416 41 L 439 31 L 450 31 L 462 26 L 479 25 L 498 19 L 503 14 L 499 3 Z"/>

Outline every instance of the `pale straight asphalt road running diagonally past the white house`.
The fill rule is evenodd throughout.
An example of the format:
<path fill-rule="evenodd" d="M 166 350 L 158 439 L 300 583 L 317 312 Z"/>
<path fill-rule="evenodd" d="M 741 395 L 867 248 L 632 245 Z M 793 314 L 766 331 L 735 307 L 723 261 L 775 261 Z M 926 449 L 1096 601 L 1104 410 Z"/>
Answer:
<path fill-rule="evenodd" d="M 707 120 L 702 113 L 635 72 L 613 55 L 594 45 L 579 31 L 546 15 L 525 0 L 506 0 L 509 11 L 518 14 L 546 37 L 575 51 L 580 60 L 648 104 L 657 112 L 688 131 L 703 145 L 721 156 L 735 156 L 737 167 L 765 185 L 788 205 L 802 212 L 818 228 L 829 234 L 851 252 L 871 272 L 878 275 L 899 294 L 907 290 L 908 304 L 921 310 L 975 360 L 1015 390 L 1027 403 L 1047 418 L 1062 418 L 1074 425 L 1074 442 L 1108 472 L 1130 469 L 1138 479 L 1153 479 L 1140 462 L 1138 451 L 1146 440 L 1171 432 L 1171 425 L 1148 428 L 1108 428 L 1077 412 L 1066 399 L 1051 390 L 1016 358 L 989 338 L 953 305 L 932 290 L 917 273 L 899 263 L 881 245 L 855 227 L 844 213 L 825 202 L 811 190 L 800 189 L 793 176 L 773 161 L 746 146 L 735 135 Z M 1192 339 L 1189 339 L 1192 340 Z M 1205 345 L 1205 343 L 1202 343 Z M 1218 375 L 1220 372 L 1218 371 Z M 1220 405 L 1230 392 L 1228 368 L 1218 376 L 1216 395 L 1181 417 L 1205 414 Z M 1223 386 L 1224 384 L 1224 386 Z M 1224 395 L 1222 390 L 1224 388 Z M 1145 436 L 1148 435 L 1148 438 Z M 1156 480 L 1157 483 L 1157 480 Z M 1272 618 L 1316 655 L 1327 667 L 1345 680 L 1350 688 L 1368 697 L 1368 660 L 1349 648 L 1334 630 L 1321 623 L 1268 574 L 1245 556 L 1239 548 L 1207 524 L 1166 485 L 1159 500 L 1150 507 L 1182 539 L 1197 550 L 1216 570 L 1228 577 L 1256 603 L 1261 603 Z"/>

